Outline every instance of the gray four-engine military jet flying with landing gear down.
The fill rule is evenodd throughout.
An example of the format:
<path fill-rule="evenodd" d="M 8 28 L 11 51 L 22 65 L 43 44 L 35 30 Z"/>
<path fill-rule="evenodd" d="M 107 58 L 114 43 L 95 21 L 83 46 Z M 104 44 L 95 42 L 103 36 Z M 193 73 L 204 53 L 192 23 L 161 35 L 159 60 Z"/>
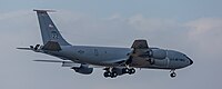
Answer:
<path fill-rule="evenodd" d="M 62 59 L 34 61 L 61 62 L 62 67 L 70 67 L 82 75 L 92 73 L 93 68 L 102 68 L 105 78 L 133 75 L 135 69 L 170 70 L 170 77 L 174 78 L 175 69 L 193 63 L 186 55 L 175 50 L 151 48 L 144 39 L 134 40 L 129 48 L 72 46 L 62 38 L 49 17 L 48 12 L 52 10 L 33 11 L 38 16 L 43 44 L 18 49 L 32 50 Z"/>

